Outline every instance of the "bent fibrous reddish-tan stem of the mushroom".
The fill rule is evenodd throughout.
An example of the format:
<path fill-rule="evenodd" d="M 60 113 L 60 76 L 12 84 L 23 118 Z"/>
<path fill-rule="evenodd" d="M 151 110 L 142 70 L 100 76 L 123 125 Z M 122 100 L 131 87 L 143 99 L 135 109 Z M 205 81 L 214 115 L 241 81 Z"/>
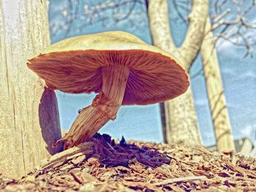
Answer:
<path fill-rule="evenodd" d="M 89 107 L 80 111 L 70 131 L 53 146 L 64 142 L 64 150 L 78 145 L 92 137 L 116 114 L 124 99 L 129 68 L 123 65 L 102 67 L 102 91 L 94 98 Z"/>

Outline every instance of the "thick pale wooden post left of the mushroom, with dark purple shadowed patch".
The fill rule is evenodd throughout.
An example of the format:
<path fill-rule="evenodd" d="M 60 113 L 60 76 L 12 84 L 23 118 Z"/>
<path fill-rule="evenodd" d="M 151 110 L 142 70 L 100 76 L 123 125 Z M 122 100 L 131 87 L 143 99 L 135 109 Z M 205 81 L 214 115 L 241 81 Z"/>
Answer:
<path fill-rule="evenodd" d="M 45 1 L 0 0 L 0 174 L 20 177 L 56 153 L 56 95 L 26 61 L 48 47 Z"/>

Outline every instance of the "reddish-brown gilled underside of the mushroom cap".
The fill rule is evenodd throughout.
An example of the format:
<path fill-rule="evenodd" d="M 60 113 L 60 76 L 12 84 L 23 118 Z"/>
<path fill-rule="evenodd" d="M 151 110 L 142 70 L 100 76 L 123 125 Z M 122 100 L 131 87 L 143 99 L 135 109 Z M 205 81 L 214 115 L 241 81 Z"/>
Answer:
<path fill-rule="evenodd" d="M 77 50 L 39 55 L 28 66 L 46 85 L 65 93 L 99 93 L 102 67 L 129 67 L 122 104 L 154 104 L 181 95 L 189 86 L 176 61 L 147 50 Z"/>

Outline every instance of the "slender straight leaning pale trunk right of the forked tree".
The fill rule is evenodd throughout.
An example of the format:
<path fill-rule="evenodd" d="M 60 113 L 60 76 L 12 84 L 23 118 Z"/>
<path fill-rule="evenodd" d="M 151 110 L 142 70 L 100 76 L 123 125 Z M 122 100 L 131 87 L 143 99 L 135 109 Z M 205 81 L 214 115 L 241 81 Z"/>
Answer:
<path fill-rule="evenodd" d="M 211 118 L 214 124 L 215 136 L 217 139 L 217 150 L 235 151 L 230 119 L 227 112 L 222 77 L 219 71 L 217 52 L 214 47 L 214 35 L 211 32 L 210 19 L 206 22 L 206 35 L 201 45 L 201 55 L 206 90 L 211 108 Z"/>

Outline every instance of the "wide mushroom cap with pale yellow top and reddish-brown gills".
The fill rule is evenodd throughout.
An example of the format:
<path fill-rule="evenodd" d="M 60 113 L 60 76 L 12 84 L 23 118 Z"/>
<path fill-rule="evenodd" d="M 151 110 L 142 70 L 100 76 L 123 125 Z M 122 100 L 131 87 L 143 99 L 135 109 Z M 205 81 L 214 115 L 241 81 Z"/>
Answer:
<path fill-rule="evenodd" d="M 181 95 L 189 86 L 173 55 L 123 31 L 64 39 L 28 61 L 46 85 L 65 93 L 99 93 L 102 70 L 109 65 L 130 69 L 122 104 L 154 104 Z"/>

